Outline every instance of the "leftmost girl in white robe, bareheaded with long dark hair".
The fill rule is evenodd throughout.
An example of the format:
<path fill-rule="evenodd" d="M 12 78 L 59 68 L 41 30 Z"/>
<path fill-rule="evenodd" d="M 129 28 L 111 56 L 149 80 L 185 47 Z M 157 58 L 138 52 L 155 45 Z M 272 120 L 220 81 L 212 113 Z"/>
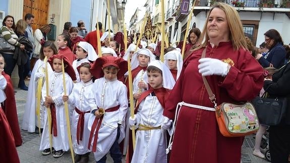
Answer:
<path fill-rule="evenodd" d="M 39 60 L 36 61 L 34 68 L 31 72 L 31 77 L 28 86 L 27 93 L 27 101 L 25 104 L 25 110 L 22 121 L 22 130 L 27 130 L 28 132 L 38 132 L 35 130 L 35 126 L 37 128 L 43 129 L 44 126 L 44 113 L 46 107 L 41 104 L 40 105 L 40 124 L 38 124 L 38 117 L 36 114 L 37 101 L 40 100 L 40 103 L 43 103 L 41 97 L 37 97 L 37 89 L 38 84 L 41 84 L 40 89 L 43 86 L 45 81 L 45 63 L 44 58 L 47 57 L 49 59 L 52 55 L 57 54 L 57 48 L 55 47 L 53 42 L 46 41 L 40 48 L 39 52 Z M 47 63 L 47 72 L 48 76 L 53 73 L 51 66 Z M 38 81 L 41 81 L 39 83 Z M 40 98 L 40 99 L 39 99 Z"/>

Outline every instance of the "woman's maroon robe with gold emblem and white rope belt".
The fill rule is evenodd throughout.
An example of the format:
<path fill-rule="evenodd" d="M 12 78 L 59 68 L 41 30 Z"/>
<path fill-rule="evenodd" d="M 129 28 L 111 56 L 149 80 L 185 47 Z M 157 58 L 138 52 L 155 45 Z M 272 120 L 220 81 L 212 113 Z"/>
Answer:
<path fill-rule="evenodd" d="M 225 60 L 231 65 L 226 77 L 206 77 L 218 105 L 222 102 L 248 101 L 259 93 L 264 81 L 263 69 L 249 51 L 243 48 L 233 50 L 231 42 L 220 42 L 218 46 L 208 45 L 206 48 L 207 58 Z M 203 48 L 194 51 L 185 60 L 180 78 L 165 103 L 163 115 L 171 120 L 174 120 L 177 103 L 181 101 L 214 107 L 198 73 L 202 51 Z M 222 136 L 215 112 L 187 106 L 180 109 L 169 162 L 241 161 L 244 137 Z"/>

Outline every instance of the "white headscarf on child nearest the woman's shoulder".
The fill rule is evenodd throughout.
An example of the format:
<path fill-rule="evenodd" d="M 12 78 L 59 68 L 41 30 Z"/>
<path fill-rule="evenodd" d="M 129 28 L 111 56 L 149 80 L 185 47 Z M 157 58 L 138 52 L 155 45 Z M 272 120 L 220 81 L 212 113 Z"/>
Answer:
<path fill-rule="evenodd" d="M 182 65 L 183 65 L 183 60 L 180 51 L 178 50 L 172 50 L 168 51 L 164 55 L 164 64 L 169 68 L 168 66 L 168 60 L 175 60 L 177 61 L 177 77 L 176 80 L 179 78 L 181 70 L 182 70 Z"/>

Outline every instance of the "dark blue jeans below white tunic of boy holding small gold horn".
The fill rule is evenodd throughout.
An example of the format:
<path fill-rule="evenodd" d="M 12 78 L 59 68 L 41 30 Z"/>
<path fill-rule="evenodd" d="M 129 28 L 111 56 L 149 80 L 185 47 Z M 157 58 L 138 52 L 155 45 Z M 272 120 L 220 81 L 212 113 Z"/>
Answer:
<path fill-rule="evenodd" d="M 119 137 L 120 137 L 120 127 L 118 126 L 116 140 L 114 141 L 113 145 L 110 148 L 110 155 L 113 158 L 114 163 L 122 163 L 122 152 L 118 144 Z M 100 160 L 98 160 L 97 163 L 105 163 L 106 159 L 107 156 L 105 155 Z"/>

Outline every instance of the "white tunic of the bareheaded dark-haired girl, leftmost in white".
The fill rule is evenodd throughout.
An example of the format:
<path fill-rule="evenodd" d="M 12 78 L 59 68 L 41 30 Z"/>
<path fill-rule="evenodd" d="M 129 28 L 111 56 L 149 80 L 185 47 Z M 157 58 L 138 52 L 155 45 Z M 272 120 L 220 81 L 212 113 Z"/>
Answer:
<path fill-rule="evenodd" d="M 48 63 L 47 63 L 47 72 L 48 72 L 48 76 L 53 73 L 51 66 Z M 38 80 L 40 78 L 38 78 L 37 75 L 35 75 L 36 73 L 45 74 L 45 63 L 41 61 L 40 59 L 36 61 L 34 68 L 31 72 L 28 93 L 27 93 L 27 101 L 25 104 L 25 110 L 24 110 L 23 121 L 22 121 L 22 129 L 27 130 L 28 132 L 35 132 L 35 126 L 39 127 L 37 114 L 36 114 L 37 99 L 39 98 L 36 95 L 37 95 Z M 43 77 L 42 81 L 43 82 L 45 81 L 45 77 Z M 43 84 L 43 82 L 41 84 Z M 43 128 L 44 126 L 44 113 L 45 113 L 45 106 L 43 105 L 43 101 L 41 99 L 40 128 Z"/>

